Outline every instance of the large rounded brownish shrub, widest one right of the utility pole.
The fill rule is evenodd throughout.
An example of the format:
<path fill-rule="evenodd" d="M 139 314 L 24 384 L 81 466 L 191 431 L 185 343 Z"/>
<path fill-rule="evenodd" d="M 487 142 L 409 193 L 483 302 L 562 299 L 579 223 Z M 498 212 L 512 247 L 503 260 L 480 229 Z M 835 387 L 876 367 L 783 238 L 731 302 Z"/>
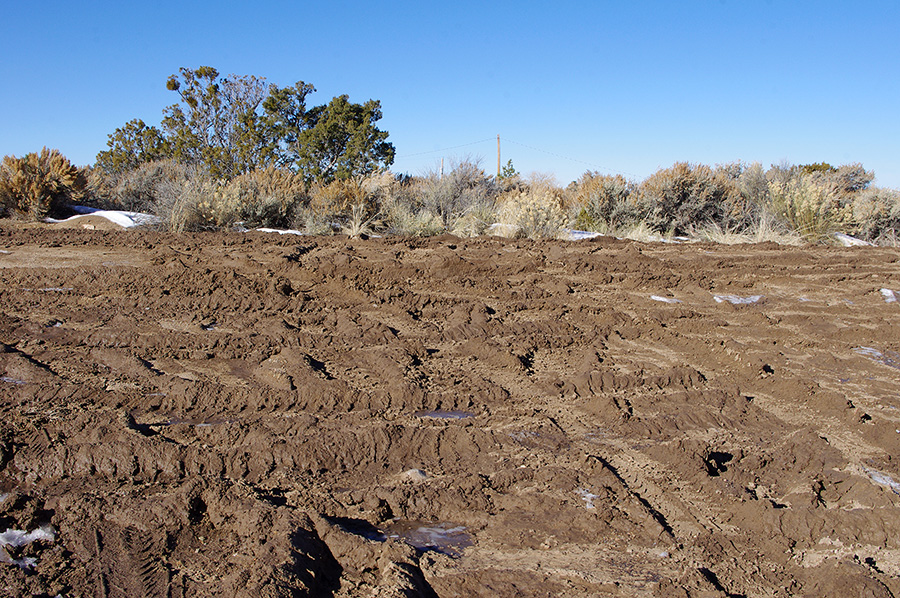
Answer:
<path fill-rule="evenodd" d="M 746 206 L 735 181 L 709 166 L 678 162 L 640 186 L 638 208 L 657 231 L 684 234 L 693 224 L 731 227 L 745 218 Z"/>

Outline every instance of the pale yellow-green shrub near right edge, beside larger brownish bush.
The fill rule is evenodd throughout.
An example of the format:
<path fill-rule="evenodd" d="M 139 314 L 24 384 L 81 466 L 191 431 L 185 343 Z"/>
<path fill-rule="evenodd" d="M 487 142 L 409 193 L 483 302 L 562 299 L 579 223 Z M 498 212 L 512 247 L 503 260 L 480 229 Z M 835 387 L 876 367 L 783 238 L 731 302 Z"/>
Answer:
<path fill-rule="evenodd" d="M 852 206 L 842 205 L 837 194 L 812 175 L 772 181 L 769 198 L 772 213 L 810 243 L 823 242 L 853 222 Z"/>

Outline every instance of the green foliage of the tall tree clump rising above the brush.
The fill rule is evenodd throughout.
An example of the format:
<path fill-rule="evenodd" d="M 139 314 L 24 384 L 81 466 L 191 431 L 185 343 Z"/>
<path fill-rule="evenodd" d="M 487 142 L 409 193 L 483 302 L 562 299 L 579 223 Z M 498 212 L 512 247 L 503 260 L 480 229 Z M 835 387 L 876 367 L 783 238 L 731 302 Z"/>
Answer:
<path fill-rule="evenodd" d="M 382 117 L 376 100 L 354 104 L 342 95 L 307 109 L 312 85 L 299 81 L 281 89 L 259 77 L 220 77 L 209 66 L 182 68 L 166 87 L 180 101 L 163 111 L 162 130 L 139 119 L 116 129 L 109 149 L 97 155 L 107 175 L 171 157 L 226 181 L 274 166 L 327 183 L 394 160 L 387 131 L 375 126 Z"/>

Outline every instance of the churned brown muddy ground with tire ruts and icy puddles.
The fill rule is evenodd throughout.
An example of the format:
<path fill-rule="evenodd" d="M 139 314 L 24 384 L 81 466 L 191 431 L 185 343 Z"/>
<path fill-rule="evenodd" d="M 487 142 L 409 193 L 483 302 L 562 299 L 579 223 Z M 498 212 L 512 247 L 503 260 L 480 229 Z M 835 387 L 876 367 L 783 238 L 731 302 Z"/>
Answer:
<path fill-rule="evenodd" d="M 0 595 L 900 595 L 898 258 L 0 223 Z"/>

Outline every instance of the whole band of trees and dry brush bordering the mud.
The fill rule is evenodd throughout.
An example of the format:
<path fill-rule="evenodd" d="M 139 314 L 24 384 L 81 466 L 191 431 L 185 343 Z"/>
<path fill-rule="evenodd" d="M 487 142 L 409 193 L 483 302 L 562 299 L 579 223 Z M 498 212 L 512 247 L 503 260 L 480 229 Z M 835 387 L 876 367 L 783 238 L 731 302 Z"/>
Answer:
<path fill-rule="evenodd" d="M 566 229 L 630 238 L 718 242 L 833 242 L 846 233 L 897 246 L 900 192 L 872 186 L 860 164 L 716 166 L 679 162 L 643 181 L 585 172 L 566 187 L 499 176 L 461 160 L 420 176 L 389 170 L 394 148 L 377 128 L 380 104 L 347 96 L 308 108 L 315 89 L 181 69 L 179 102 L 162 128 L 135 119 L 78 168 L 44 148 L 0 164 L 0 216 L 64 216 L 68 206 L 144 212 L 172 231 L 293 228 L 429 236 L 553 238 Z"/>

